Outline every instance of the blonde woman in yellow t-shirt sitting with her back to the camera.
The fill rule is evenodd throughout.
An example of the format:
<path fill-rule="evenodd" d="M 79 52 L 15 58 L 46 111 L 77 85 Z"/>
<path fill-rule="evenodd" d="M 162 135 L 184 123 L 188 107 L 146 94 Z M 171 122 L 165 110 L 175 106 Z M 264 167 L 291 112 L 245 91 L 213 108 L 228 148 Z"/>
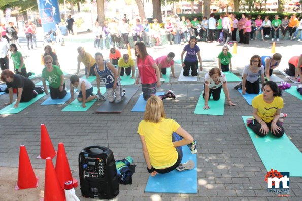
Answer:
<path fill-rule="evenodd" d="M 151 176 L 173 170 L 191 170 L 192 160 L 181 163 L 182 147 L 187 145 L 196 154 L 196 141 L 175 120 L 166 118 L 162 100 L 151 96 L 146 104 L 144 120 L 139 124 L 143 154 Z"/>

